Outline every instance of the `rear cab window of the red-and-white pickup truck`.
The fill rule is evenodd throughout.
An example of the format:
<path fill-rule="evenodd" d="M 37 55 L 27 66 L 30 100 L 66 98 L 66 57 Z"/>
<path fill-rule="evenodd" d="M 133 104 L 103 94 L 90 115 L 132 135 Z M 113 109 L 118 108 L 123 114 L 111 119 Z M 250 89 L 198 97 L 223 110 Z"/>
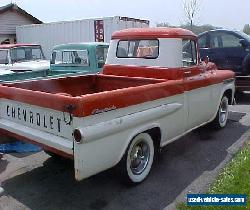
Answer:
<path fill-rule="evenodd" d="M 154 40 L 121 40 L 118 42 L 117 58 L 151 58 L 159 56 L 159 41 Z"/>

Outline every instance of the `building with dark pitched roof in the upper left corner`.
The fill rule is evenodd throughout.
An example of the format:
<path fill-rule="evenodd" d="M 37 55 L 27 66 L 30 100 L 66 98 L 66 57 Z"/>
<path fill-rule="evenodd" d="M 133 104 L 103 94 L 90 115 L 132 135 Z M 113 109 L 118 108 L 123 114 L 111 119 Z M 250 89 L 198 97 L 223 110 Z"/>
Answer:
<path fill-rule="evenodd" d="M 29 24 L 40 24 L 42 21 L 33 17 L 16 4 L 0 7 L 0 43 L 16 42 L 16 27 Z"/>

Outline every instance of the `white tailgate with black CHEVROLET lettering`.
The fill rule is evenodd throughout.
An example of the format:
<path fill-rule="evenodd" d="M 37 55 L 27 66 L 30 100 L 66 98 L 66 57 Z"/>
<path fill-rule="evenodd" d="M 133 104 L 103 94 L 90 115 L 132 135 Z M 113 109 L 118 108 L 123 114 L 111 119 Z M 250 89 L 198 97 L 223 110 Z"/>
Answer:
<path fill-rule="evenodd" d="M 72 119 L 69 113 L 0 99 L 0 128 L 72 153 Z"/>

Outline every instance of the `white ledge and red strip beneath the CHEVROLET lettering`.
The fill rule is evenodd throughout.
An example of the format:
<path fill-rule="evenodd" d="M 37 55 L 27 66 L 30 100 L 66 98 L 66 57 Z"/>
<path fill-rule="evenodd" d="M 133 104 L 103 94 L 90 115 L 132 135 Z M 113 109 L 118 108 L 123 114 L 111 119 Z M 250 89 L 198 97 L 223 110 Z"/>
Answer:
<path fill-rule="evenodd" d="M 18 123 L 0 119 L 1 133 L 29 141 L 56 154 L 73 158 L 73 141 Z"/>

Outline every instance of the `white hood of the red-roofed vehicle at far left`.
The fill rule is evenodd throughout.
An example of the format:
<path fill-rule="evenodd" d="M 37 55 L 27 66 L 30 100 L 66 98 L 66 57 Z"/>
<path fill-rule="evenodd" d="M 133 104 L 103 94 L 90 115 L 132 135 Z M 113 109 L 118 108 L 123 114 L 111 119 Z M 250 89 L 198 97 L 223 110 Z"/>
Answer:
<path fill-rule="evenodd" d="M 36 71 L 49 69 L 49 60 L 26 61 L 14 63 L 10 66 L 9 70 L 13 71 Z"/>

